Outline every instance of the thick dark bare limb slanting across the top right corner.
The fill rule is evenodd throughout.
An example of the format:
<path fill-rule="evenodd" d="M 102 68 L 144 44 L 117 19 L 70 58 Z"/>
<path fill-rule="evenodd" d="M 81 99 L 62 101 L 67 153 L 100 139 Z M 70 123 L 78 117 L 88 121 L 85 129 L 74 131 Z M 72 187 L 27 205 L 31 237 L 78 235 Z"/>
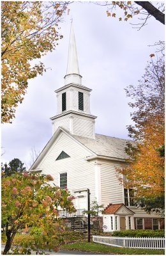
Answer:
<path fill-rule="evenodd" d="M 160 12 L 153 4 L 146 1 L 135 2 L 144 8 L 150 15 L 155 17 L 156 20 L 160 21 L 162 24 L 165 24 L 165 14 Z"/>

